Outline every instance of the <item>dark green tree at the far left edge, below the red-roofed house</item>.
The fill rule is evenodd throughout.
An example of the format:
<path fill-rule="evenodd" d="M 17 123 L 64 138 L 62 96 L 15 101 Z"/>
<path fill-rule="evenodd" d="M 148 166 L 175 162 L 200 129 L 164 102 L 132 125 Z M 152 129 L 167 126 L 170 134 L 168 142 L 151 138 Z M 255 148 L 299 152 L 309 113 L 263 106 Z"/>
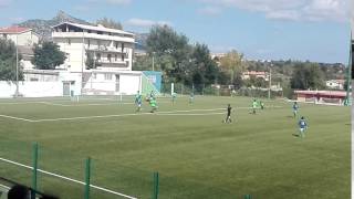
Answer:
<path fill-rule="evenodd" d="M 19 55 L 21 60 L 21 55 Z M 0 39 L 0 81 L 15 81 L 15 45 L 11 40 Z M 19 80 L 23 80 L 23 70 L 19 63 Z"/>

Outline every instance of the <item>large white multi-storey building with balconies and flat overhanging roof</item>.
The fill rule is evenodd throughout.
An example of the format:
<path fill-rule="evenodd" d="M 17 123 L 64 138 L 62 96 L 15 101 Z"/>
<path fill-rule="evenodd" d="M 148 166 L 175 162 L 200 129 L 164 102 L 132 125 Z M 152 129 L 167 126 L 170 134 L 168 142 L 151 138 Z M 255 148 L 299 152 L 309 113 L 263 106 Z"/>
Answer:
<path fill-rule="evenodd" d="M 86 71 L 86 60 L 92 57 L 97 70 L 132 71 L 133 33 L 102 25 L 64 22 L 53 27 L 52 38 L 67 56 L 62 69 Z"/>

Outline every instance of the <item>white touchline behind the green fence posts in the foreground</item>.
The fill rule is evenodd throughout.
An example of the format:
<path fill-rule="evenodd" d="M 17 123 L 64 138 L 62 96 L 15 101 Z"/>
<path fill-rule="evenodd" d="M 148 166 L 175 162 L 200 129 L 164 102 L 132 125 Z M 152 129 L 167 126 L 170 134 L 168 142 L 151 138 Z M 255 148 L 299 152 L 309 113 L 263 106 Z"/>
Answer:
<path fill-rule="evenodd" d="M 17 163 L 17 161 L 12 161 L 12 160 L 9 160 L 9 159 L 6 159 L 6 158 L 1 158 L 1 157 L 0 157 L 0 160 L 33 170 L 33 167 L 30 167 L 28 165 L 23 165 L 23 164 L 20 164 L 20 163 Z M 54 176 L 54 177 L 58 177 L 58 178 L 61 178 L 61 179 L 64 179 L 64 180 L 67 180 L 67 181 L 72 181 L 72 182 L 76 182 L 76 184 L 81 184 L 81 185 L 86 185 L 83 181 L 80 181 L 80 180 L 76 180 L 76 179 L 72 179 L 72 178 L 69 178 L 69 177 L 65 177 L 65 176 L 61 176 L 61 175 L 58 175 L 58 174 L 54 174 L 54 172 L 50 172 L 50 171 L 46 171 L 46 170 L 38 169 L 38 171 L 46 174 L 49 176 Z M 127 195 L 124 195 L 124 193 L 121 193 L 121 192 L 116 192 L 116 191 L 113 191 L 113 190 L 110 190 L 110 189 L 106 189 L 106 188 L 103 188 L 103 187 L 98 187 L 98 186 L 95 186 L 95 185 L 90 185 L 90 187 L 95 188 L 95 189 L 100 189 L 100 190 L 103 190 L 103 191 L 106 191 L 106 192 L 111 192 L 113 195 L 122 196 L 122 197 L 125 197 L 125 198 L 137 199 L 135 197 L 127 196 Z"/>

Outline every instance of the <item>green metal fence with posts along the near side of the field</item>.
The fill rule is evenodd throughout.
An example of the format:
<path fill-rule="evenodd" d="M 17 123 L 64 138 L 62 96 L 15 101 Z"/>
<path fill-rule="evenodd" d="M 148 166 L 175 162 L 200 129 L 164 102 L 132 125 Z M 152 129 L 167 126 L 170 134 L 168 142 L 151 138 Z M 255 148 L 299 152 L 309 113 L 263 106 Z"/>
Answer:
<path fill-rule="evenodd" d="M 0 139 L 0 177 L 33 189 L 38 198 L 44 193 L 61 199 L 251 198 L 158 171 L 110 165 L 37 143 L 7 138 Z"/>

